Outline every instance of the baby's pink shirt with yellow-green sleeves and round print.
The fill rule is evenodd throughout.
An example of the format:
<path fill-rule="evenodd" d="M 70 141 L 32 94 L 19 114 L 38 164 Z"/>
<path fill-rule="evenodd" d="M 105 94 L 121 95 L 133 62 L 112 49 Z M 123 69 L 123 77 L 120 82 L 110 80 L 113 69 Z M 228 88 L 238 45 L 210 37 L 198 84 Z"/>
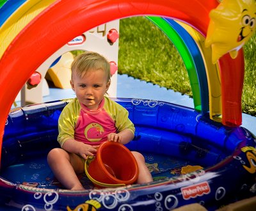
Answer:
<path fill-rule="evenodd" d="M 135 130 L 128 111 L 108 97 L 102 99 L 97 110 L 88 109 L 74 98 L 61 112 L 58 128 L 61 147 L 70 138 L 88 145 L 100 145 L 111 132 L 129 129 L 134 134 Z"/>

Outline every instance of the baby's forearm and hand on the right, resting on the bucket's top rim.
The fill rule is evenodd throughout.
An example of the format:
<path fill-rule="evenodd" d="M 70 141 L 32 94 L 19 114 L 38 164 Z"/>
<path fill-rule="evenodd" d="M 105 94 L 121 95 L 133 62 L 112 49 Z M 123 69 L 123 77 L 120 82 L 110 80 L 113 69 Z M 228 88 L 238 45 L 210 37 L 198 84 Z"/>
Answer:
<path fill-rule="evenodd" d="M 114 141 L 122 143 L 123 145 L 129 143 L 134 137 L 134 134 L 129 129 L 124 129 L 120 131 L 118 134 L 111 133 L 108 134 L 108 141 Z"/>

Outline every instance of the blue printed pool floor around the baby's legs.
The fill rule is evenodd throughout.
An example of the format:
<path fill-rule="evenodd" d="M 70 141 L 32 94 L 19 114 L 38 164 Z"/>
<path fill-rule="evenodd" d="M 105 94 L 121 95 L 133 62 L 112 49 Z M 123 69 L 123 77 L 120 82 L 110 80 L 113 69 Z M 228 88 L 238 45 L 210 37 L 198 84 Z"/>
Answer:
<path fill-rule="evenodd" d="M 147 167 L 154 180 L 170 178 L 181 174 L 182 167 L 196 166 L 188 160 L 180 160 L 166 155 L 143 153 Z M 33 160 L 23 160 L 3 169 L 1 177 L 15 184 L 45 189 L 63 189 L 56 180 L 46 160 L 46 155 Z M 84 174 L 77 175 L 84 188 L 92 189 L 93 184 Z"/>

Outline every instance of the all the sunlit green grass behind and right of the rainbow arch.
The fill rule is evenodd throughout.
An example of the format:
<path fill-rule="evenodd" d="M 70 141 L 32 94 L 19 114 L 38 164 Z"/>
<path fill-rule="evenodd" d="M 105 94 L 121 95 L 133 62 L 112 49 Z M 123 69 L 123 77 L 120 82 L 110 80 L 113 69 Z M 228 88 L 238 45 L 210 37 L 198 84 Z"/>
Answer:
<path fill-rule="evenodd" d="M 256 116 L 256 35 L 244 46 L 243 113 Z M 120 20 L 118 73 L 192 97 L 188 72 L 166 35 L 145 17 Z"/>

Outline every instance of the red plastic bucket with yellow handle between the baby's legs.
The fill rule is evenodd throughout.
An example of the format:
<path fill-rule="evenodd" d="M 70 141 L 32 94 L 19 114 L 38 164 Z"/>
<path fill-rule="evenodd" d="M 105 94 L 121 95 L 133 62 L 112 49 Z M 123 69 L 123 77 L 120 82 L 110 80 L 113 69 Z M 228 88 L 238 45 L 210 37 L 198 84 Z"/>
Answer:
<path fill-rule="evenodd" d="M 87 169 L 88 168 L 88 169 Z M 97 187 L 118 187 L 134 184 L 138 164 L 124 145 L 106 141 L 99 146 L 95 159 L 85 164 L 85 173 Z"/>

